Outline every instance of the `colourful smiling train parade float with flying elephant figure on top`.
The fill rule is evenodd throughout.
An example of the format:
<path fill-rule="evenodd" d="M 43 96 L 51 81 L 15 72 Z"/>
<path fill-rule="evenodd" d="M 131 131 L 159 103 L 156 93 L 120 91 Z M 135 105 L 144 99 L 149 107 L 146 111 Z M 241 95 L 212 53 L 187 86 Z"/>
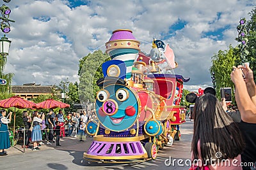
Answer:
<path fill-rule="evenodd" d="M 154 39 L 149 54 L 128 29 L 113 31 L 106 43 L 111 60 L 97 81 L 97 120 L 86 124 L 93 142 L 84 159 L 93 161 L 156 159 L 157 150 L 180 139 L 186 108 L 180 106 L 183 82 L 172 48 Z"/>

